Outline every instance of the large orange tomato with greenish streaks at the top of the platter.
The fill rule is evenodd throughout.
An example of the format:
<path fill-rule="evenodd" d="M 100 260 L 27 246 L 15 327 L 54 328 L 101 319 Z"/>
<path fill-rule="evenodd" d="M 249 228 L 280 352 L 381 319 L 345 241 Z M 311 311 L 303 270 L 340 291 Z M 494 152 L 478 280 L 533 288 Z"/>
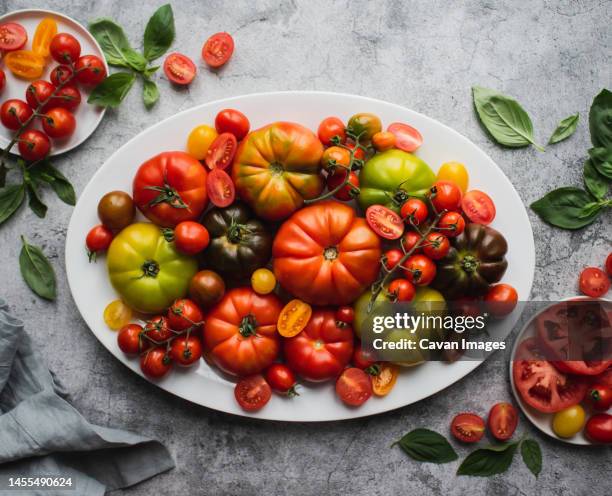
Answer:
<path fill-rule="evenodd" d="M 258 217 L 281 220 L 299 209 L 304 200 L 323 191 L 323 145 L 304 126 L 276 122 L 241 142 L 232 178 L 240 197 Z"/>

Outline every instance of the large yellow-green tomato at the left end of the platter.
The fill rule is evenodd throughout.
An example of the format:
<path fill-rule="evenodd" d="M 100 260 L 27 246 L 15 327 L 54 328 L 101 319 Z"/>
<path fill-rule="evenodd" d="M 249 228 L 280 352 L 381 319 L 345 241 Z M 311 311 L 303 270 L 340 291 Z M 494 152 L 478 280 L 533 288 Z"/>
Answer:
<path fill-rule="evenodd" d="M 121 231 L 108 249 L 108 274 L 121 299 L 142 313 L 160 313 L 187 295 L 198 271 L 195 258 L 179 253 L 155 224 Z"/>

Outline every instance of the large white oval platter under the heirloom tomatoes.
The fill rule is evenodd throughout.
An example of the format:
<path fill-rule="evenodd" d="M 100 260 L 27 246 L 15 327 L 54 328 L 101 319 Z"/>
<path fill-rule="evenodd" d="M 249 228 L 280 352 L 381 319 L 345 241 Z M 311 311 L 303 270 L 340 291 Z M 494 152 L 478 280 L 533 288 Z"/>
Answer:
<path fill-rule="evenodd" d="M 100 197 L 111 190 L 131 192 L 131 183 L 140 164 L 166 150 L 183 150 L 189 131 L 202 123 L 214 122 L 217 112 L 236 108 L 250 119 L 253 129 L 275 120 L 299 122 L 316 129 L 326 116 L 343 120 L 356 112 L 373 112 L 384 123 L 403 121 L 415 126 L 424 138 L 418 155 L 434 170 L 450 160 L 468 167 L 472 188 L 485 190 L 497 204 L 493 223 L 509 242 L 508 271 L 504 281 L 526 300 L 531 291 L 535 266 L 535 248 L 527 212 L 517 192 L 500 168 L 482 150 L 449 127 L 412 110 L 391 103 L 359 96 L 324 92 L 280 92 L 228 98 L 194 107 L 160 122 L 130 140 L 96 172 L 74 210 L 66 239 L 68 282 L 83 318 L 115 357 L 141 374 L 138 361 L 126 357 L 117 346 L 116 333 L 104 324 L 104 307 L 117 298 L 108 280 L 102 259 L 89 264 L 84 239 L 89 229 L 99 223 L 96 215 Z M 519 318 L 518 312 L 505 321 L 507 335 Z M 302 387 L 297 399 L 274 395 L 268 405 L 251 417 L 287 421 L 341 420 L 385 412 L 419 401 L 458 381 L 480 362 L 456 362 L 452 365 L 431 362 L 405 370 L 397 385 L 385 398 L 373 398 L 362 407 L 344 406 L 333 392 L 333 384 Z M 204 362 L 192 372 L 173 371 L 156 384 L 171 393 L 200 405 L 246 415 L 236 404 L 234 384 Z"/>

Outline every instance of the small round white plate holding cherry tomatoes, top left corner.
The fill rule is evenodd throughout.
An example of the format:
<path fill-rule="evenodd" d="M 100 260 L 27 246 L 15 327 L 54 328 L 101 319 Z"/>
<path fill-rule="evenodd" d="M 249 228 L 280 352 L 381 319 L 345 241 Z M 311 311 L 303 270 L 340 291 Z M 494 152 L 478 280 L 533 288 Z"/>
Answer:
<path fill-rule="evenodd" d="M 0 24 L 5 22 L 17 22 L 21 24 L 28 32 L 28 41 L 24 47 L 24 50 L 30 50 L 32 48 L 32 39 L 34 38 L 34 32 L 38 23 L 45 17 L 52 17 L 57 22 L 58 33 L 70 33 L 74 35 L 81 44 L 82 55 L 97 55 L 104 62 L 106 72 L 108 73 L 108 65 L 106 65 L 106 59 L 102 53 L 102 49 L 94 37 L 81 26 L 77 21 L 71 19 L 68 16 L 53 12 L 51 10 L 41 9 L 28 9 L 28 10 L 17 10 L 9 14 L 5 14 L 0 17 Z M 54 67 L 59 65 L 55 60 L 49 57 L 47 61 L 47 67 L 43 72 L 40 79 L 50 81 L 51 71 Z M 1 101 L 8 100 L 9 98 L 18 98 L 25 101 L 26 88 L 32 81 L 27 79 L 21 79 L 13 75 L 11 71 L 6 68 L 6 65 L 0 62 L 0 68 L 6 74 L 6 86 L 4 91 L 0 95 Z M 79 146 L 85 141 L 91 134 L 96 130 L 98 124 L 104 117 L 105 109 L 87 103 L 87 98 L 91 92 L 91 88 L 87 88 L 83 85 L 78 85 L 79 91 L 81 92 L 81 104 L 76 109 L 74 116 L 76 117 L 77 126 L 74 134 L 67 140 L 52 140 L 51 155 L 59 155 L 60 153 L 67 152 Z M 36 119 L 38 121 L 38 119 Z M 41 129 L 40 123 L 36 122 L 34 126 L 36 129 Z M 13 136 L 13 132 L 10 129 L 0 126 L 0 146 L 5 147 L 9 144 L 10 139 Z M 17 147 L 13 147 L 13 153 L 17 153 Z"/>

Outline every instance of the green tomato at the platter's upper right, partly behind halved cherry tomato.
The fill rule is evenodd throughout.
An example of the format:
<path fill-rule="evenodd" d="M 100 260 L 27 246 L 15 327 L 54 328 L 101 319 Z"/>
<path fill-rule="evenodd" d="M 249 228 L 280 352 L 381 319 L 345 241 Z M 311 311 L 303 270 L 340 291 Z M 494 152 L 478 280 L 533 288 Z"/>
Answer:
<path fill-rule="evenodd" d="M 359 175 L 359 205 L 384 205 L 396 212 L 409 196 L 424 196 L 436 180 L 419 157 L 402 150 L 387 150 L 366 162 Z"/>

